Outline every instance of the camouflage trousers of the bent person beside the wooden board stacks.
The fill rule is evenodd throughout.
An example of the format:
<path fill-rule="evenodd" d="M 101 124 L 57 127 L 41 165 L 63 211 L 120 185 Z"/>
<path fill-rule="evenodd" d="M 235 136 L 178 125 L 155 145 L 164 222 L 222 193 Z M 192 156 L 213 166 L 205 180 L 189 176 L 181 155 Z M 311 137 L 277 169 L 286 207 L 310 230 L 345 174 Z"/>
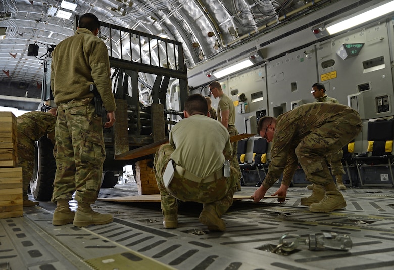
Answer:
<path fill-rule="evenodd" d="M 34 143 L 23 133 L 18 133 L 18 167 L 22 167 L 22 191 L 23 199 L 27 200 L 27 190 L 34 170 Z"/>

